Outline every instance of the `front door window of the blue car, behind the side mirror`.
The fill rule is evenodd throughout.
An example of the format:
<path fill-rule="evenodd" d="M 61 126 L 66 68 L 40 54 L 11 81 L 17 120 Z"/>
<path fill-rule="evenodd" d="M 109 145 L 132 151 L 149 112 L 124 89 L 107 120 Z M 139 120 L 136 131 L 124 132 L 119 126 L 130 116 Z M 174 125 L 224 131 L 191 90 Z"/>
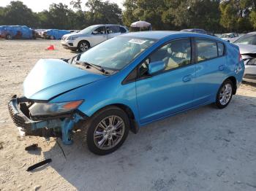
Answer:
<path fill-rule="evenodd" d="M 191 63 L 190 39 L 174 40 L 152 53 L 139 67 L 140 76 L 146 75 L 148 63 L 163 61 L 165 70 L 177 69 Z"/>

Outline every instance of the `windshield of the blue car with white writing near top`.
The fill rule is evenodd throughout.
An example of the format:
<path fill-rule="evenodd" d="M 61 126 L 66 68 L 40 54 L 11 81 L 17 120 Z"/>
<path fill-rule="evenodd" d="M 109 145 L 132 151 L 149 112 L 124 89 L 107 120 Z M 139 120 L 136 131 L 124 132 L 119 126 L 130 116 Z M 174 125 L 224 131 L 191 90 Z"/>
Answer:
<path fill-rule="evenodd" d="M 118 71 L 154 42 L 156 42 L 155 39 L 117 36 L 83 52 L 80 61 Z"/>

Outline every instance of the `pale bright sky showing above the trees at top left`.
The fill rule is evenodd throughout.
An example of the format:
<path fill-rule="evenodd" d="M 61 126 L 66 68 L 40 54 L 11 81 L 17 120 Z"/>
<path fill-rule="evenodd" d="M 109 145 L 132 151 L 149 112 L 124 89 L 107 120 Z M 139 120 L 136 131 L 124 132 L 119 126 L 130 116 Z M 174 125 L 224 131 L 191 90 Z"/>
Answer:
<path fill-rule="evenodd" d="M 0 0 L 0 7 L 5 7 L 7 4 L 10 4 L 10 1 L 14 0 Z M 63 3 L 69 5 L 69 2 L 72 0 L 19 0 L 23 1 L 23 4 L 26 4 L 34 12 L 41 12 L 43 9 L 48 9 L 50 4 L 53 3 Z M 82 0 L 83 4 L 86 4 L 86 0 Z M 105 1 L 105 0 L 102 0 Z M 122 8 L 122 3 L 124 0 L 109 0 L 110 2 L 115 2 L 119 7 Z M 69 6 L 70 7 L 70 6 Z M 84 8 L 84 6 L 83 6 Z"/>

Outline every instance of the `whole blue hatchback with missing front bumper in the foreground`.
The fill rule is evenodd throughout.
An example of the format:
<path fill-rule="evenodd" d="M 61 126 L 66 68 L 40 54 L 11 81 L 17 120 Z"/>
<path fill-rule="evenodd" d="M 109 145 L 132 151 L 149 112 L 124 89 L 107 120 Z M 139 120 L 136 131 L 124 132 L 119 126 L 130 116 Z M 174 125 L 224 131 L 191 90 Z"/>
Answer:
<path fill-rule="evenodd" d="M 26 135 L 80 129 L 97 155 L 115 151 L 129 130 L 188 109 L 223 109 L 241 84 L 238 46 L 214 36 L 151 31 L 116 36 L 70 59 L 43 59 L 9 102 Z"/>

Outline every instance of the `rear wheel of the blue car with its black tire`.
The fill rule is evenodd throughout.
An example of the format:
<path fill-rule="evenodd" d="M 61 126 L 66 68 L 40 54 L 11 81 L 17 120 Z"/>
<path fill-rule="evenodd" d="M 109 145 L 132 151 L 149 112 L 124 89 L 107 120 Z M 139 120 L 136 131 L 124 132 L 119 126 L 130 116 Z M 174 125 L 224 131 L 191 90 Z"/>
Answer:
<path fill-rule="evenodd" d="M 228 89 L 230 89 L 230 87 L 231 87 L 231 90 L 229 90 L 230 93 L 227 93 L 223 96 L 222 93 L 223 93 L 223 90 L 225 89 L 225 87 L 228 87 Z M 219 90 L 218 90 L 218 93 L 217 93 L 217 96 L 216 96 L 215 105 L 217 106 L 217 108 L 223 109 L 228 104 L 230 104 L 230 101 L 231 101 L 232 96 L 233 96 L 233 91 L 234 91 L 233 82 L 230 79 L 226 79 L 225 82 L 222 83 L 221 87 L 219 87 Z M 225 97 L 225 96 L 227 96 L 227 97 Z M 225 101 L 222 101 L 222 97 L 224 97 Z M 225 99 L 225 98 L 228 98 L 228 100 Z"/>

